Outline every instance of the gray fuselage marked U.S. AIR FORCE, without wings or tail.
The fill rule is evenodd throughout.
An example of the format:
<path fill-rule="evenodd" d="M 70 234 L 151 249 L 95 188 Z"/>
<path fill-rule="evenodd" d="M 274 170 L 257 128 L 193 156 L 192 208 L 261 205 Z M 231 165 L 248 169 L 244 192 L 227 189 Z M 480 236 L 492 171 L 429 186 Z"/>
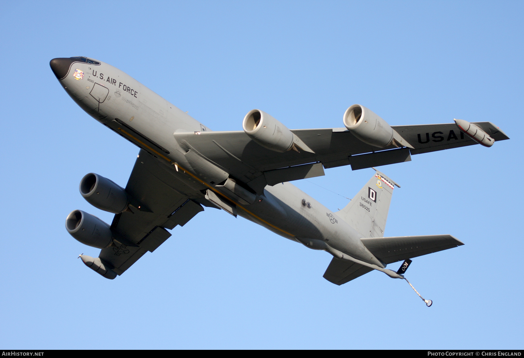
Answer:
<path fill-rule="evenodd" d="M 184 165 L 187 163 L 183 155 L 186 151 L 173 137 L 173 133 L 211 131 L 208 127 L 123 71 L 101 61 L 88 62 L 73 62 L 69 70 L 63 69 L 65 75 L 61 79 L 53 69 L 61 86 L 85 112 L 155 155 L 169 166 L 173 176 L 190 182 L 195 189 L 212 189 L 227 196 L 187 169 L 191 166 Z M 118 123 L 125 123 L 125 128 Z M 133 132 L 155 143 L 156 148 L 138 140 Z M 180 170 L 176 170 L 174 163 Z M 238 215 L 278 235 L 298 242 L 301 238 L 322 240 L 356 259 L 384 267 L 362 244 L 360 233 L 290 183 L 266 186 L 264 193 L 257 195 L 256 201 L 250 205 L 239 204 L 231 196 L 228 199 L 236 204 Z"/>

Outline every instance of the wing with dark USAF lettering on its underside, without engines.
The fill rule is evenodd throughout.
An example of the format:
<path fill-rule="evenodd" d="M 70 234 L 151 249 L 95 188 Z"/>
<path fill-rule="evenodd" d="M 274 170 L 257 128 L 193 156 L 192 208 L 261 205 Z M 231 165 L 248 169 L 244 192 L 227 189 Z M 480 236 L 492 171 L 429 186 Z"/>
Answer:
<path fill-rule="evenodd" d="M 508 139 L 490 122 L 475 122 L 495 141 Z M 414 149 L 376 148 L 345 128 L 291 130 L 314 152 L 274 152 L 263 148 L 244 131 L 174 133 L 174 138 L 257 193 L 266 185 L 324 175 L 324 168 L 351 165 L 353 170 L 411 160 L 411 154 L 477 144 L 455 123 L 392 126 Z"/>

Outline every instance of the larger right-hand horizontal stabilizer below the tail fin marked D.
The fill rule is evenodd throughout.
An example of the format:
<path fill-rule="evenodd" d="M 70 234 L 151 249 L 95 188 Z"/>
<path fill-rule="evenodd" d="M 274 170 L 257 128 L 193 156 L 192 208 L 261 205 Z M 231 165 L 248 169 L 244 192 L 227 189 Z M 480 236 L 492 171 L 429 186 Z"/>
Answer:
<path fill-rule="evenodd" d="M 385 264 L 464 245 L 451 235 L 368 237 L 361 240 Z"/>

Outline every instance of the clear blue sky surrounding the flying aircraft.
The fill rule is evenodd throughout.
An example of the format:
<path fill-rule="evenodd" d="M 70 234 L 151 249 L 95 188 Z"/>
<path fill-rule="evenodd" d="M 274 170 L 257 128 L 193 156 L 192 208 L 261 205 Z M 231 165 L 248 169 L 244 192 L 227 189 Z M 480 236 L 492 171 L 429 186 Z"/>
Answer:
<path fill-rule="evenodd" d="M 520 2 L 3 2 L 3 349 L 522 348 Z M 117 279 L 86 268 L 65 217 L 89 172 L 125 186 L 138 148 L 84 113 L 49 68 L 88 56 L 212 130 L 258 108 L 288 128 L 343 127 L 354 103 L 391 125 L 492 121 L 511 138 L 380 167 L 401 184 L 386 236 L 465 245 L 343 286 L 330 262 L 207 209 Z M 331 209 L 373 175 L 294 182 Z M 315 185 L 316 184 L 316 185 Z M 400 265 L 400 263 L 398 264 Z M 394 267 L 395 266 L 395 267 Z M 397 264 L 391 265 L 396 269 Z"/>

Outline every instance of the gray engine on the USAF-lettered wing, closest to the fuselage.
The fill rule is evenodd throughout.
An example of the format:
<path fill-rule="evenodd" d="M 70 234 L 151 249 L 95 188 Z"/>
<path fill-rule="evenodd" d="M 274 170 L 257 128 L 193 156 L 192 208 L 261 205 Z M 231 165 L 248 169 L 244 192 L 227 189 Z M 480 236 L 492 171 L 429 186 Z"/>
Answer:
<path fill-rule="evenodd" d="M 300 138 L 285 125 L 266 112 L 254 109 L 249 111 L 242 122 L 244 132 L 255 142 L 269 150 L 283 153 L 299 149 L 314 153 Z"/>

